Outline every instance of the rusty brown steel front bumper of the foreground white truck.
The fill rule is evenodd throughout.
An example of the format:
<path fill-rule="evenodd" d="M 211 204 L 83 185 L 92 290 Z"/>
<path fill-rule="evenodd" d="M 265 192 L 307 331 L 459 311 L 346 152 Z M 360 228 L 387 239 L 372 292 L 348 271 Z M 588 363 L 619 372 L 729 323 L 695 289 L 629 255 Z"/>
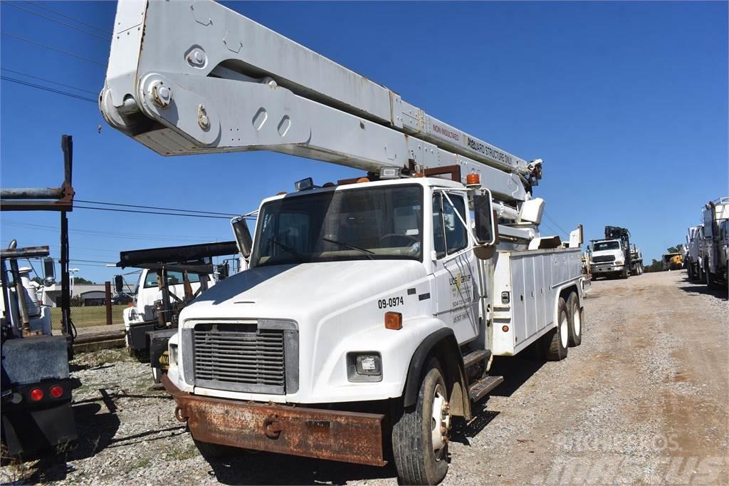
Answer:
<path fill-rule="evenodd" d="M 384 466 L 383 414 L 260 404 L 184 393 L 166 374 L 177 420 L 195 439 L 243 449 Z"/>

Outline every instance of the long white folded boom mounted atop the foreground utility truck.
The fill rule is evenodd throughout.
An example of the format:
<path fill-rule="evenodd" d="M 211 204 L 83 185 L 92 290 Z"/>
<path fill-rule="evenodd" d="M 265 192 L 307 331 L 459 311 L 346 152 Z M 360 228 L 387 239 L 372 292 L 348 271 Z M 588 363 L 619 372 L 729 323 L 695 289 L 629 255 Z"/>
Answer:
<path fill-rule="evenodd" d="M 273 150 L 367 171 L 459 166 L 526 201 L 541 161 L 426 114 L 394 91 L 214 1 L 121 0 L 101 112 L 162 155 Z M 461 181 L 464 182 L 464 181 Z"/>

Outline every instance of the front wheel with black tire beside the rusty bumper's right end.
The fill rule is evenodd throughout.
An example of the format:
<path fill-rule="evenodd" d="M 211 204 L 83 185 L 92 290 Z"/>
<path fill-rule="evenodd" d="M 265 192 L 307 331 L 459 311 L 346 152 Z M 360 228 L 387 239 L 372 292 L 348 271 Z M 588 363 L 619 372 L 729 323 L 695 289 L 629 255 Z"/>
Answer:
<path fill-rule="evenodd" d="M 448 390 L 438 360 L 426 366 L 416 406 L 392 427 L 392 452 L 403 485 L 437 485 L 448 473 Z"/>

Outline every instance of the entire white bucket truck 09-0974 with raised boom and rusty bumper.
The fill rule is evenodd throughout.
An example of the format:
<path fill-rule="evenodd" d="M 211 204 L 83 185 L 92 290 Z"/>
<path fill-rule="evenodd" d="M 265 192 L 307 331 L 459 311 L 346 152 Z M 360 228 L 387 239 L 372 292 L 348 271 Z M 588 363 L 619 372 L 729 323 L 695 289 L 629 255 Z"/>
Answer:
<path fill-rule="evenodd" d="M 366 172 L 265 198 L 254 236 L 233 220 L 249 268 L 182 310 L 162 378 L 203 454 L 394 459 L 435 484 L 454 418 L 502 382 L 494 356 L 580 344 L 580 232 L 539 233 L 541 160 L 213 1 L 120 1 L 114 26 L 99 104 L 138 142 Z"/>

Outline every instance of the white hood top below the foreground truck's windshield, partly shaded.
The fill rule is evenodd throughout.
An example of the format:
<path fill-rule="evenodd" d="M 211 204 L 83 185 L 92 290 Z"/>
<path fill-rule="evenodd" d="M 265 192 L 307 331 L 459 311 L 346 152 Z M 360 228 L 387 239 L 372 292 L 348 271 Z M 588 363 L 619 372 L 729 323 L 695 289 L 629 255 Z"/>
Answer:
<path fill-rule="evenodd" d="M 424 279 L 411 260 L 337 261 L 260 266 L 219 282 L 186 306 L 180 320 L 319 320 L 363 299 Z"/>

